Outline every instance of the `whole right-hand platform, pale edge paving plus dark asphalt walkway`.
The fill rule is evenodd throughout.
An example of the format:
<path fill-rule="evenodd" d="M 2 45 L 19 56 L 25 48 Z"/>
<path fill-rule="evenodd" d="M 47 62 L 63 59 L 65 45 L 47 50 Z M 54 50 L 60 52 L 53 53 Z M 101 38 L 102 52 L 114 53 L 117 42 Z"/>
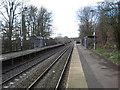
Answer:
<path fill-rule="evenodd" d="M 119 66 L 80 44 L 74 44 L 66 88 L 120 88 Z"/>

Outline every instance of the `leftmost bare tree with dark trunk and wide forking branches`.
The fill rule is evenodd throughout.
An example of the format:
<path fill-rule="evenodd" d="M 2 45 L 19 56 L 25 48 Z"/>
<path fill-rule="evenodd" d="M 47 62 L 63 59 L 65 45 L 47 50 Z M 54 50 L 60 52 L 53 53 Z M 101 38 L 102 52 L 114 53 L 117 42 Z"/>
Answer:
<path fill-rule="evenodd" d="M 1 7 L 3 11 L 0 11 L 0 14 L 3 16 L 3 20 L 6 23 L 6 28 L 4 31 L 8 34 L 9 48 L 12 51 L 12 34 L 14 28 L 14 20 L 18 15 L 18 7 L 21 5 L 19 0 L 2 0 Z"/>

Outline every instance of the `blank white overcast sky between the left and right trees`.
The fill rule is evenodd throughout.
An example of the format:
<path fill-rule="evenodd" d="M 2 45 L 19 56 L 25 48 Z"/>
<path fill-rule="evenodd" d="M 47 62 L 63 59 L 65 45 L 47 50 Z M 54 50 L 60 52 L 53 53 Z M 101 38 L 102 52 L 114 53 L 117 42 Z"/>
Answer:
<path fill-rule="evenodd" d="M 87 5 L 95 5 L 103 0 L 30 0 L 30 4 L 40 8 L 47 8 L 53 13 L 53 37 L 62 36 L 78 37 L 78 22 L 76 11 Z"/>

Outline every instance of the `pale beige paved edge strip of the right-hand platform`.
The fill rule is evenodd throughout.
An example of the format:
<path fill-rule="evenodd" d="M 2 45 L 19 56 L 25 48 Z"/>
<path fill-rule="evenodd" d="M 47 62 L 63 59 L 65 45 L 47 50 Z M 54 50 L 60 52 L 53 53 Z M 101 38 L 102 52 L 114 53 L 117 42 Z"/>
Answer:
<path fill-rule="evenodd" d="M 88 88 L 76 44 L 71 57 L 66 88 Z"/>

